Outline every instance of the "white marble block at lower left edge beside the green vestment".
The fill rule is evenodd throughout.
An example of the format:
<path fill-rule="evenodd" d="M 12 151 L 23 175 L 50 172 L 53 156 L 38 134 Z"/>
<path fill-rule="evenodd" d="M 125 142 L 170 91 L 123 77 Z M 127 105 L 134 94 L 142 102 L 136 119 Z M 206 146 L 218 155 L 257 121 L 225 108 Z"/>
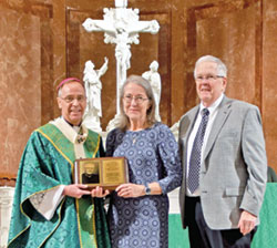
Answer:
<path fill-rule="evenodd" d="M 13 187 L 0 187 L 0 248 L 8 242 L 13 193 Z"/>

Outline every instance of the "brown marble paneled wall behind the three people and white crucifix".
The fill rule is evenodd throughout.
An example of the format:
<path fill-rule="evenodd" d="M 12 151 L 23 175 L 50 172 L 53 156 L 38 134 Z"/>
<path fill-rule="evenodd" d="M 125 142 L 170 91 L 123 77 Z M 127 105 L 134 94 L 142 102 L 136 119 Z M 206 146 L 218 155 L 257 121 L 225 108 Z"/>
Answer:
<path fill-rule="evenodd" d="M 82 79 L 85 61 L 99 69 L 106 56 L 102 130 L 116 113 L 114 45 L 103 42 L 103 32 L 89 33 L 82 27 L 86 18 L 103 19 L 104 8 L 114 8 L 114 0 L 0 1 L 2 235 L 24 145 L 34 128 L 59 116 L 55 85 L 66 76 Z M 160 24 L 158 33 L 140 33 L 140 44 L 131 45 L 127 75 L 158 62 L 162 122 L 173 126 L 197 104 L 194 63 L 204 54 L 218 56 L 228 68 L 226 94 L 259 107 L 268 165 L 277 172 L 277 1 L 129 0 L 127 8 L 137 8 L 140 20 Z"/>

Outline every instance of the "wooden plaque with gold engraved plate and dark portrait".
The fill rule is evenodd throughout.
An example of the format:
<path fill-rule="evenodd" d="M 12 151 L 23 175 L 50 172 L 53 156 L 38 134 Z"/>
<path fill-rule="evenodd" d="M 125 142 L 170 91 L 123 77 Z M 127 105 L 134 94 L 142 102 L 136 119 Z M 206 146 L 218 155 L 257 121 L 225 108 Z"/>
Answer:
<path fill-rule="evenodd" d="M 90 188 L 101 186 L 115 189 L 129 183 L 127 163 L 124 157 L 81 158 L 74 163 L 74 184 L 85 184 Z"/>

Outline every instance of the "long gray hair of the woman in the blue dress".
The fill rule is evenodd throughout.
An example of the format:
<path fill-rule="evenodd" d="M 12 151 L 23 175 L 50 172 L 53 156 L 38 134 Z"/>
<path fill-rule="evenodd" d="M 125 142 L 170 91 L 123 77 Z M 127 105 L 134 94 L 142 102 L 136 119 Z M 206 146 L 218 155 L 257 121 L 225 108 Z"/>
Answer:
<path fill-rule="evenodd" d="M 121 114 L 120 114 L 120 120 L 119 120 L 119 123 L 116 126 L 122 131 L 126 131 L 127 127 L 130 126 L 130 120 L 129 120 L 127 115 L 124 113 L 124 108 L 123 108 L 124 90 L 125 90 L 125 86 L 130 83 L 137 84 L 144 89 L 144 91 L 147 95 L 147 99 L 150 101 L 150 104 L 151 104 L 150 108 L 146 112 L 146 122 L 147 122 L 147 126 L 152 126 L 154 123 L 157 122 L 155 118 L 156 104 L 155 104 L 155 100 L 154 100 L 154 94 L 153 94 L 152 86 L 151 86 L 150 82 L 140 75 L 130 75 L 121 87 L 121 91 L 120 91 L 120 111 L 121 111 Z"/>

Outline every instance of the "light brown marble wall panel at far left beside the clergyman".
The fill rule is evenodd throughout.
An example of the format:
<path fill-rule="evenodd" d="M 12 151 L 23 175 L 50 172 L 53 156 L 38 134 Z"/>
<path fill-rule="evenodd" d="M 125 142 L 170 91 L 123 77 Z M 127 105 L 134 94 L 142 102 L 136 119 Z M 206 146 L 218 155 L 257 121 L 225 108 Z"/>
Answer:
<path fill-rule="evenodd" d="M 27 138 L 41 124 L 39 27 L 38 17 L 0 9 L 1 177 L 14 178 Z"/>

